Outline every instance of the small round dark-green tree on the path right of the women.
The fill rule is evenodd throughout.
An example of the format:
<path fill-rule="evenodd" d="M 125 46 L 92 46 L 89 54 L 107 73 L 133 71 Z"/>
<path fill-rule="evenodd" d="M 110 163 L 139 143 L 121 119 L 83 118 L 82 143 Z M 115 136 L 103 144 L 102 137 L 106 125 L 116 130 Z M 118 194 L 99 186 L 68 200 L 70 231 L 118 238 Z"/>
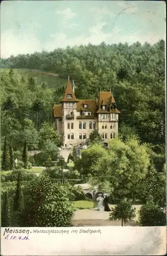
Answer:
<path fill-rule="evenodd" d="M 135 218 L 136 208 L 132 208 L 132 205 L 128 201 L 122 201 L 114 208 L 111 209 L 109 220 L 122 220 L 123 224 L 132 221 Z"/>

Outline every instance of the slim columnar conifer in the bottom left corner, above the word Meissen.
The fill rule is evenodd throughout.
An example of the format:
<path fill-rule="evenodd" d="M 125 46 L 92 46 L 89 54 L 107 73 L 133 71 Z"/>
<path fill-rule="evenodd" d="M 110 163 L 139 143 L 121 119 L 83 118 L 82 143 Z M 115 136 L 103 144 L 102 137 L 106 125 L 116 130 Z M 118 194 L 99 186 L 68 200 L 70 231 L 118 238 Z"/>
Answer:
<path fill-rule="evenodd" d="M 11 226 L 10 200 L 9 200 L 8 191 L 6 191 L 6 194 L 5 194 L 1 218 L 2 218 L 2 223 L 1 223 L 2 227 L 10 227 Z"/>

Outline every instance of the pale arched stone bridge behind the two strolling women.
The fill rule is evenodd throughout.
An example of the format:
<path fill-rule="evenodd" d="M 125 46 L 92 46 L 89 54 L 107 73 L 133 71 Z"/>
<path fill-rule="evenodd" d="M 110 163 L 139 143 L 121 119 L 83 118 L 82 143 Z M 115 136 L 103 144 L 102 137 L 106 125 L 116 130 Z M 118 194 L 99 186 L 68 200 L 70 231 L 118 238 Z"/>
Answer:
<path fill-rule="evenodd" d="M 75 184 L 75 186 L 82 187 L 84 194 L 87 198 L 93 199 L 94 201 L 99 197 L 99 194 L 107 195 L 109 196 L 109 193 L 103 193 L 98 190 L 98 188 L 95 186 L 94 189 L 91 188 L 90 184 L 84 183 L 84 184 Z"/>

